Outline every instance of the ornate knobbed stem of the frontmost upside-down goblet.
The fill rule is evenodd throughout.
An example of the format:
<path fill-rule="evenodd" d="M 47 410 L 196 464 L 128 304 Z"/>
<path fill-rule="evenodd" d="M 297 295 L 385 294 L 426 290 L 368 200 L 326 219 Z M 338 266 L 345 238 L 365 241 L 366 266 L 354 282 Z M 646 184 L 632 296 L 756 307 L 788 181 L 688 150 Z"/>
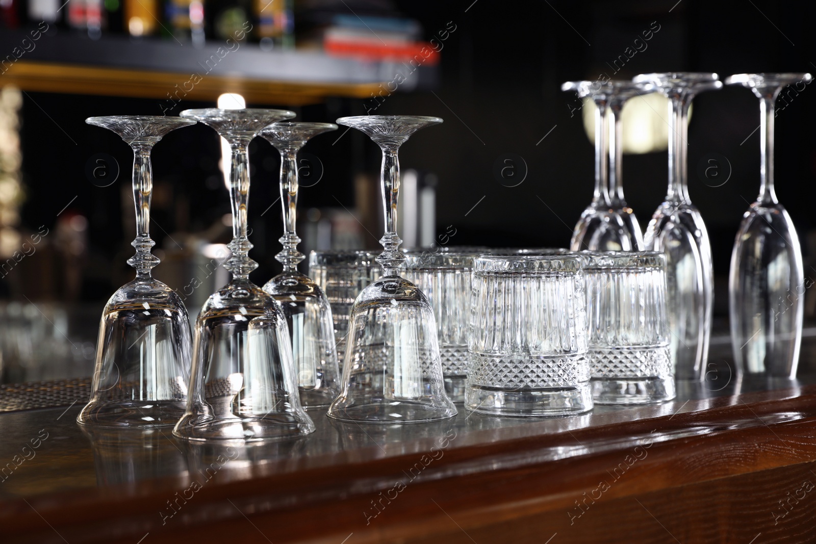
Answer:
<path fill-rule="evenodd" d="M 246 237 L 246 207 L 250 197 L 249 146 L 251 137 L 233 137 L 229 145 L 232 159 L 229 170 L 229 197 L 233 209 L 233 241 L 229 242 L 232 256 L 224 263 L 224 268 L 233 273 L 233 279 L 249 281 L 250 272 L 258 268 L 258 263 L 250 259 L 252 244 Z"/>

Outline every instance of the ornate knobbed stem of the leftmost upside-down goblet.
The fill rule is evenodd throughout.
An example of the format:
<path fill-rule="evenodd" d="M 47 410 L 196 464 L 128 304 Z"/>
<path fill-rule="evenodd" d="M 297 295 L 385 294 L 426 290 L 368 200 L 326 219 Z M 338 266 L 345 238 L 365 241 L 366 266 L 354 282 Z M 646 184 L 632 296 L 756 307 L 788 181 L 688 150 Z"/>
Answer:
<path fill-rule="evenodd" d="M 159 259 L 150 253 L 156 242 L 150 239 L 150 197 L 153 194 L 153 171 L 150 150 L 154 142 L 131 142 L 133 149 L 133 203 L 136 210 L 136 238 L 131 242 L 136 254 L 127 263 L 136 269 L 136 277 L 149 279 Z"/>

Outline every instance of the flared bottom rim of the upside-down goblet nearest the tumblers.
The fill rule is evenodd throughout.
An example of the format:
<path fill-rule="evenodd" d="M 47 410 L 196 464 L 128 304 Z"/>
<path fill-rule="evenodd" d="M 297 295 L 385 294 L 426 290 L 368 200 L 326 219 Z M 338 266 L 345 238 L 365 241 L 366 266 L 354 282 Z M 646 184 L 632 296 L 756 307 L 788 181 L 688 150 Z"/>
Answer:
<path fill-rule="evenodd" d="M 450 408 L 440 406 L 438 400 L 432 399 L 364 398 L 335 402 L 327 415 L 344 422 L 405 424 L 452 418 L 456 415 L 456 409 L 453 405 Z"/>

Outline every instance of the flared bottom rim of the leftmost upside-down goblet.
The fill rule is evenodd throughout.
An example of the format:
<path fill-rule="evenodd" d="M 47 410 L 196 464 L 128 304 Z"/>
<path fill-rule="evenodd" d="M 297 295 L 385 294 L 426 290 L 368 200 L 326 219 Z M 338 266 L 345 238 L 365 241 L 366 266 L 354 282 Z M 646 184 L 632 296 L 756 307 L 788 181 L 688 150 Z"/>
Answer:
<path fill-rule="evenodd" d="M 170 427 L 184 415 L 186 400 L 92 400 L 77 417 L 89 427 Z"/>

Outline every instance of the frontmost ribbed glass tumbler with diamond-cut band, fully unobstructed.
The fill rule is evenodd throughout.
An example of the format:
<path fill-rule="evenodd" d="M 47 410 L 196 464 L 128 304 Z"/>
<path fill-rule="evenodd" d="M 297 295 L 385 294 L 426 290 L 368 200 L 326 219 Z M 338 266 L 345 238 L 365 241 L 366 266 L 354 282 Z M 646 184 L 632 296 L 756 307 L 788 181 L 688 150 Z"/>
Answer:
<path fill-rule="evenodd" d="M 474 259 L 468 409 L 515 416 L 592 409 L 581 259 Z"/>

